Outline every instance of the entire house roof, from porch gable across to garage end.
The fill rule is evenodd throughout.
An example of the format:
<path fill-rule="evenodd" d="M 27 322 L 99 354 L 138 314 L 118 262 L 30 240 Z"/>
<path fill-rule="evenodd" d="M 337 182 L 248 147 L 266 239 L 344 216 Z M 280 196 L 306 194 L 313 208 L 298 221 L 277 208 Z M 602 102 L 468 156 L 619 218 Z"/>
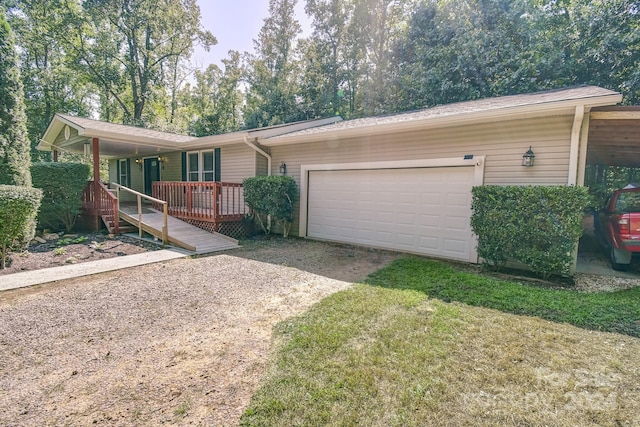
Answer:
<path fill-rule="evenodd" d="M 472 123 L 498 122 L 526 117 L 573 114 L 577 106 L 591 109 L 622 100 L 614 91 L 597 86 L 576 86 L 522 95 L 478 99 L 440 105 L 419 111 L 343 121 L 340 117 L 309 120 L 247 131 L 196 138 L 151 129 L 118 125 L 67 114 L 56 114 L 38 149 L 82 153 L 91 138 L 100 139 L 100 156 L 122 158 L 151 156 L 169 151 L 197 150 L 240 144 L 264 146 L 323 141 L 393 132 L 430 129 Z"/>

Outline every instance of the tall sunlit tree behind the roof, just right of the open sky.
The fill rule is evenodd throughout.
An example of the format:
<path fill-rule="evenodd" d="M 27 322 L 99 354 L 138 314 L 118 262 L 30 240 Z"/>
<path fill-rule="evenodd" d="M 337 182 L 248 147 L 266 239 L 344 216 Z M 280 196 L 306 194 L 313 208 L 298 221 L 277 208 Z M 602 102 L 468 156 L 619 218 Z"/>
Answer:
<path fill-rule="evenodd" d="M 256 53 L 247 57 L 247 128 L 303 118 L 296 99 L 298 79 L 293 49 L 301 28 L 294 18 L 295 5 L 296 0 L 269 0 L 269 16 L 254 40 Z"/>

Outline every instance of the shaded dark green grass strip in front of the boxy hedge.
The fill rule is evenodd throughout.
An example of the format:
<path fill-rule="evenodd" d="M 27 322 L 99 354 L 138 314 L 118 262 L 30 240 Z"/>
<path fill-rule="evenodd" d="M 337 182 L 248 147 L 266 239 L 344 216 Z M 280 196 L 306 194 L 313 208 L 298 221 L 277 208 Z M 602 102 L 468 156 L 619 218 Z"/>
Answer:
<path fill-rule="evenodd" d="M 460 272 L 445 263 L 421 258 L 394 261 L 371 274 L 366 283 L 421 291 L 445 302 L 640 337 L 640 287 L 611 293 L 545 289 Z"/>

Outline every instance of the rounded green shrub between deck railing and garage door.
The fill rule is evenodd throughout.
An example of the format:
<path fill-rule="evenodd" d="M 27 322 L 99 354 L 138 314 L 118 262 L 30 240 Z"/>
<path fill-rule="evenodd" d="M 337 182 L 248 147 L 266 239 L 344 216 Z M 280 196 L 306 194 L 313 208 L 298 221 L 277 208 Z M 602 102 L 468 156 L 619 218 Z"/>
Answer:
<path fill-rule="evenodd" d="M 298 186 L 289 176 L 256 176 L 243 182 L 244 200 L 265 233 L 271 232 L 267 216 L 282 226 L 283 235 L 289 235 L 293 222 L 293 202 Z"/>

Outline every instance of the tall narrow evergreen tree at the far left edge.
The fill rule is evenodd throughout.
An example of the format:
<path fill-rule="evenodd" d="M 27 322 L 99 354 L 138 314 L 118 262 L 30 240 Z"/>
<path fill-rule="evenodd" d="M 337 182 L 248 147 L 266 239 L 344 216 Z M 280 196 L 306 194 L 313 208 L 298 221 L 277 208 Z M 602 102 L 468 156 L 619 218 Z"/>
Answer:
<path fill-rule="evenodd" d="M 22 90 L 13 34 L 0 13 L 0 184 L 30 187 L 31 157 Z"/>

